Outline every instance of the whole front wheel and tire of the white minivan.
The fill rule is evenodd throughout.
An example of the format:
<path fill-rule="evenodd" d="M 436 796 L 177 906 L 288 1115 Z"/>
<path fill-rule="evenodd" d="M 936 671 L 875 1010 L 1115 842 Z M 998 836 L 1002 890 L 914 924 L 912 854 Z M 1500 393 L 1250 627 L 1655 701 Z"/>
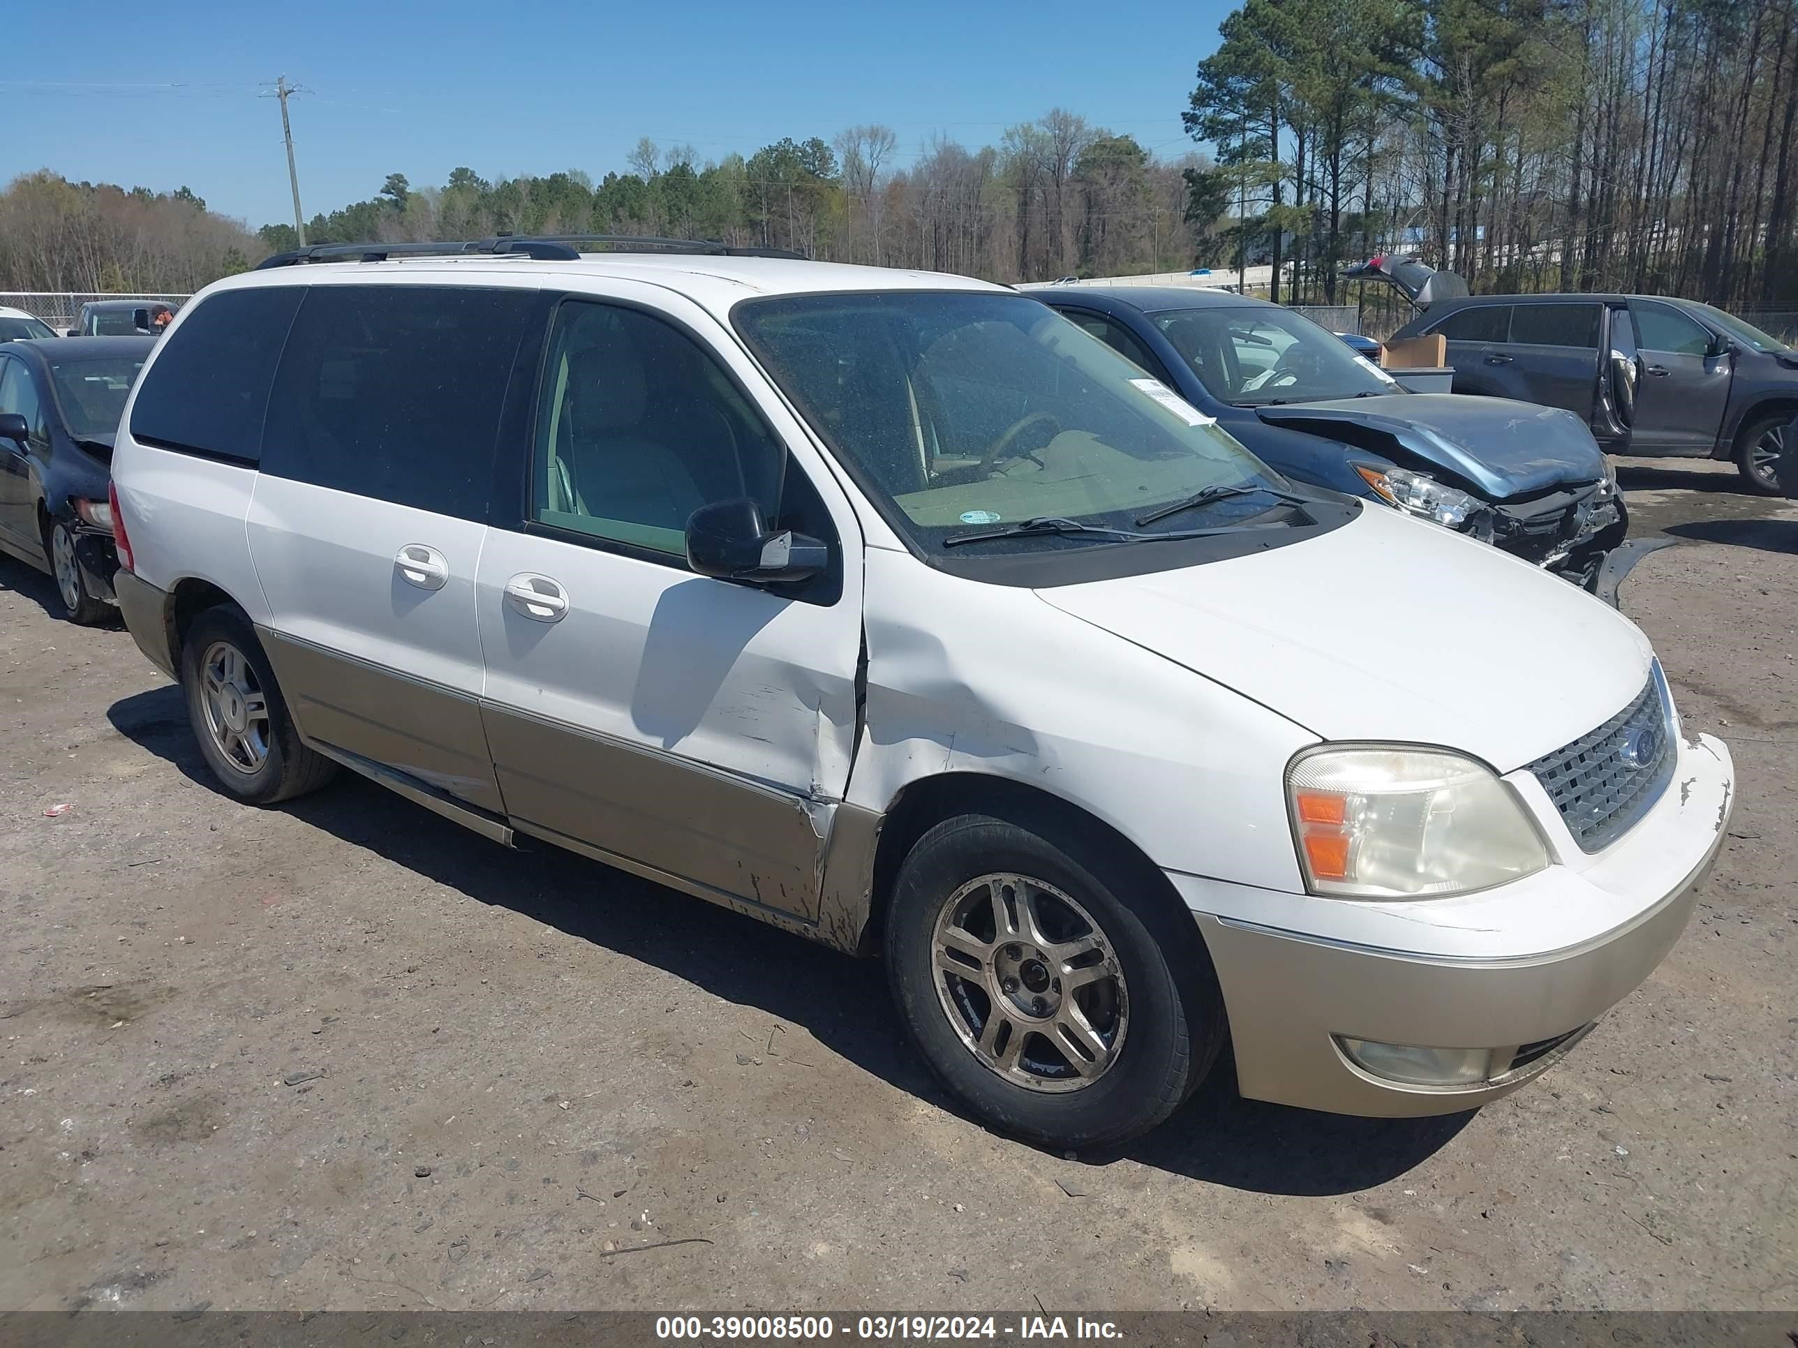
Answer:
<path fill-rule="evenodd" d="M 1046 1147 L 1115 1147 L 1210 1071 L 1223 996 L 1197 929 L 1147 877 L 1021 820 L 962 814 L 906 856 L 886 911 L 894 998 L 982 1120 Z"/>

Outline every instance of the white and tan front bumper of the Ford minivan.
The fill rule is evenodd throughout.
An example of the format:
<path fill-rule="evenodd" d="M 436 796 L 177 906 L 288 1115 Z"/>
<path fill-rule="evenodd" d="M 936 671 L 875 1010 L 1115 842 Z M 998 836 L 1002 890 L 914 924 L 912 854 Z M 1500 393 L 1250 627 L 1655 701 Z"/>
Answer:
<path fill-rule="evenodd" d="M 1534 778 L 1512 780 L 1537 814 L 1552 811 L 1546 796 L 1532 798 Z M 1681 737 L 1672 784 L 1616 843 L 1584 856 L 1566 839 L 1557 865 L 1456 899 L 1357 902 L 1169 874 L 1217 967 L 1237 1087 L 1393 1118 L 1514 1091 L 1672 949 L 1726 834 L 1733 789 L 1728 748 Z M 1410 1064 L 1399 1069 L 1406 1080 L 1384 1075 L 1390 1062 Z M 1456 1066 L 1431 1080 L 1433 1062 Z"/>

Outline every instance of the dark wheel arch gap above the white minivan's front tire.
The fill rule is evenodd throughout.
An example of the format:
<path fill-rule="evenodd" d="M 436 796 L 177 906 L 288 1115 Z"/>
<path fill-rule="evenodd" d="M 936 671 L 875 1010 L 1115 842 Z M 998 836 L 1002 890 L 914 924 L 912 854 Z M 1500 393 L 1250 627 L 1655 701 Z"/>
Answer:
<path fill-rule="evenodd" d="M 1208 960 L 1205 938 L 1190 920 L 1185 902 L 1167 875 L 1126 834 L 1082 809 L 1066 796 L 1057 796 L 1030 782 L 992 773 L 937 773 L 906 782 L 881 816 L 879 838 L 874 847 L 867 882 L 867 913 L 856 954 L 876 954 L 886 922 L 899 866 L 917 841 L 931 827 L 957 814 L 991 814 L 1025 829 L 1048 830 L 1048 841 L 1073 852 L 1102 856 L 1108 866 L 1118 866 L 1131 881 L 1133 891 L 1149 899 L 1165 915 L 1183 918 L 1172 924 L 1187 933 L 1194 953 Z"/>

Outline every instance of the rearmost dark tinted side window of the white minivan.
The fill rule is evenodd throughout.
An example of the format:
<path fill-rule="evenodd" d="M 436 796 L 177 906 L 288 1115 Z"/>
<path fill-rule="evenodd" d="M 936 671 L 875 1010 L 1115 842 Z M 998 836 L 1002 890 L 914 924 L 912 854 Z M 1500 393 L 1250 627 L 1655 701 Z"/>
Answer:
<path fill-rule="evenodd" d="M 131 439 L 254 464 L 298 286 L 228 289 L 164 338 L 131 404 Z"/>

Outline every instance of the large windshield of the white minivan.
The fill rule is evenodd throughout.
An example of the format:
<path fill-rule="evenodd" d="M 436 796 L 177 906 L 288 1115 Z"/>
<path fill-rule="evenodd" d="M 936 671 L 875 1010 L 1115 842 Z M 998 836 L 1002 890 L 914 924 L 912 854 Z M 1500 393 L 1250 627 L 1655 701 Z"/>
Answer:
<path fill-rule="evenodd" d="M 888 518 L 924 546 L 1023 519 L 1135 528 L 1153 507 L 1206 487 L 1282 483 L 1170 388 L 1021 295 L 802 295 L 744 302 L 735 322 L 863 487 L 897 507 Z M 1269 505 L 1232 496 L 1203 525 Z M 969 550 L 1104 543 L 1039 534 Z"/>

